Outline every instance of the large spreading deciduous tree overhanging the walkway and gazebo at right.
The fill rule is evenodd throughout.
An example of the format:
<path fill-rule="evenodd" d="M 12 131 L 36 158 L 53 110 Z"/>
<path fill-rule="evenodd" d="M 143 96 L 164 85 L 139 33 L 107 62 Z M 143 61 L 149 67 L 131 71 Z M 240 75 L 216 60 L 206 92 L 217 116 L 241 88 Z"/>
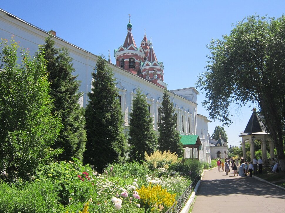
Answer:
<path fill-rule="evenodd" d="M 203 106 L 212 119 L 229 125 L 229 106 L 258 103 L 285 171 L 285 16 L 250 16 L 222 40 L 212 40 L 207 71 L 198 86 L 206 91 Z M 222 102 L 223 104 L 217 104 Z"/>

